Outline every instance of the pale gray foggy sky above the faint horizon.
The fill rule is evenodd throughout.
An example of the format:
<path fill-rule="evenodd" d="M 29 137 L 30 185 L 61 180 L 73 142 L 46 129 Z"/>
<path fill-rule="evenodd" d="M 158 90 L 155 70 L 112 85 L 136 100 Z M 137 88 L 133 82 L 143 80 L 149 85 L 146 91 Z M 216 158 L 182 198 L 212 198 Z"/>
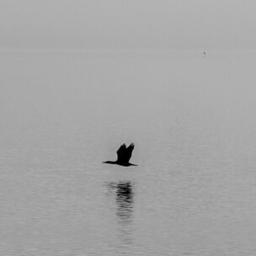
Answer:
<path fill-rule="evenodd" d="M 253 0 L 0 0 L 0 48 L 246 48 Z"/>

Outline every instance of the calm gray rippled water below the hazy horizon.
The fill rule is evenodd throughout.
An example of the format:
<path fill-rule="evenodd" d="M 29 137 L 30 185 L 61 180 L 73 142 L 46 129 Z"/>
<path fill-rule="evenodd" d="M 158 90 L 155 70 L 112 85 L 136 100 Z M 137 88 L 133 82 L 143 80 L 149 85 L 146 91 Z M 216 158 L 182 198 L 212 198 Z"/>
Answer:
<path fill-rule="evenodd" d="M 255 255 L 255 64 L 2 52 L 0 254 Z"/>

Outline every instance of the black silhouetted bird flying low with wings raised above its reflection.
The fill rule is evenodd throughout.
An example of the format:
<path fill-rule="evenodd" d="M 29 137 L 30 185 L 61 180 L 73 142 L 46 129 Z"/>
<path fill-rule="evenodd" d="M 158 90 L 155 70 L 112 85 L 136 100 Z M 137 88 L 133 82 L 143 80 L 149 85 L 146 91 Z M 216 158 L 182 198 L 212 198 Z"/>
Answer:
<path fill-rule="evenodd" d="M 105 161 L 103 163 L 118 164 L 125 167 L 131 166 L 131 165 L 137 166 L 136 164 L 129 163 L 133 149 L 134 149 L 133 143 L 131 143 L 129 147 L 126 147 L 124 143 L 120 146 L 120 148 L 116 152 L 117 153 L 116 161 Z"/>

